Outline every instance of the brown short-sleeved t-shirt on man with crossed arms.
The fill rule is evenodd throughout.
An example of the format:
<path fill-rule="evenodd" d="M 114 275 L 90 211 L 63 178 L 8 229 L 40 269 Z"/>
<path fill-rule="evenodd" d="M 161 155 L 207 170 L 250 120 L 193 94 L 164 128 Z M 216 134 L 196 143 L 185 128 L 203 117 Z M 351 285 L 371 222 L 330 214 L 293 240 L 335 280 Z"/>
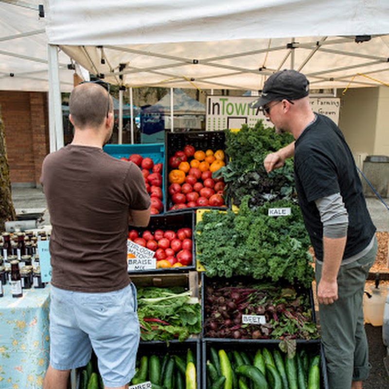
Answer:
<path fill-rule="evenodd" d="M 41 183 L 53 227 L 52 284 L 79 292 L 128 285 L 128 212 L 150 206 L 139 167 L 98 147 L 67 145 L 45 158 Z"/>

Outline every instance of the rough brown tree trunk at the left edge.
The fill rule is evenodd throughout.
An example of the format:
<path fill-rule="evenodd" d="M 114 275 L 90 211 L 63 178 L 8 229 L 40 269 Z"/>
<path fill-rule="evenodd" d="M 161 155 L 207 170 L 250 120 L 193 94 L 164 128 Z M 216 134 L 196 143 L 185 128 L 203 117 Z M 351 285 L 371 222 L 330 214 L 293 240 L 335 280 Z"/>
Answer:
<path fill-rule="evenodd" d="M 15 220 L 15 208 L 11 196 L 11 180 L 9 178 L 9 165 L 7 148 L 5 144 L 4 127 L 0 109 L 0 231 L 4 230 L 4 223 Z"/>

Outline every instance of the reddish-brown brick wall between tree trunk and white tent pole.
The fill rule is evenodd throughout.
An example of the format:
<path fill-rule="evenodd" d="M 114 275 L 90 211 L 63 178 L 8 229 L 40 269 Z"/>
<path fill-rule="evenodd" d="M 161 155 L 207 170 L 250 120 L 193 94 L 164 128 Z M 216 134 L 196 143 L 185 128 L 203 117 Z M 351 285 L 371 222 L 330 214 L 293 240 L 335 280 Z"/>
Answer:
<path fill-rule="evenodd" d="M 12 184 L 39 184 L 49 153 L 47 93 L 0 91 Z"/>

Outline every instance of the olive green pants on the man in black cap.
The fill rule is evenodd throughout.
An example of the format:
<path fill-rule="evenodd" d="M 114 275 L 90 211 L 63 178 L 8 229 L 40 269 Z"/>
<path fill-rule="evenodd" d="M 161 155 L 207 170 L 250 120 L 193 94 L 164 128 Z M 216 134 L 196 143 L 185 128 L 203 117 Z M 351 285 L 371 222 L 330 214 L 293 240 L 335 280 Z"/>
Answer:
<path fill-rule="evenodd" d="M 375 261 L 377 240 L 371 250 L 351 264 L 340 266 L 338 300 L 319 304 L 321 337 L 330 389 L 349 389 L 352 381 L 366 380 L 371 365 L 363 322 L 363 293 L 369 269 Z M 316 261 L 316 284 L 322 266 Z"/>

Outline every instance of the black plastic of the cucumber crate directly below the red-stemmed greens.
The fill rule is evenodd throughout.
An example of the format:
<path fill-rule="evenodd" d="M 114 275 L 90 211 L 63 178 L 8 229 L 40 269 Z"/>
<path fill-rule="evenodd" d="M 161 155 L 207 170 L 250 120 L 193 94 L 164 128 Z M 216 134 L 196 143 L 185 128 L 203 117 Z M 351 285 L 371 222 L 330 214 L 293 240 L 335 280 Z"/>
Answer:
<path fill-rule="evenodd" d="M 159 341 L 141 341 L 139 344 L 137 359 L 139 359 L 143 355 L 147 355 L 149 357 L 153 354 L 162 358 L 165 354 L 168 353 L 169 355 L 179 355 L 182 359 L 184 359 L 184 361 L 186 361 L 188 349 L 192 351 L 195 358 L 197 383 L 196 387 L 197 389 L 200 389 L 202 380 L 201 374 L 203 369 L 201 364 L 201 345 L 199 339 L 188 339 L 183 342 L 179 342 L 178 340 L 170 340 L 168 343 Z"/>

